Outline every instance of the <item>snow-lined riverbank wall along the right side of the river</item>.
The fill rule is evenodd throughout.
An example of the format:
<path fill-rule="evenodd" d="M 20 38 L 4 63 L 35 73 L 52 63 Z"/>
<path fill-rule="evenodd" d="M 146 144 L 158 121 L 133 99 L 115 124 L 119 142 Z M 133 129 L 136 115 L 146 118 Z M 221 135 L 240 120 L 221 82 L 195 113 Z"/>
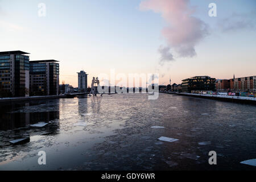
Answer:
<path fill-rule="evenodd" d="M 191 96 L 199 98 L 208 98 L 212 100 L 228 101 L 228 102 L 238 102 L 242 104 L 253 104 L 256 105 L 255 97 L 240 97 L 240 96 L 220 96 L 220 95 L 210 95 L 210 94 L 196 94 L 196 93 L 171 93 L 171 92 L 160 92 L 167 94 L 176 94 L 180 96 Z"/>

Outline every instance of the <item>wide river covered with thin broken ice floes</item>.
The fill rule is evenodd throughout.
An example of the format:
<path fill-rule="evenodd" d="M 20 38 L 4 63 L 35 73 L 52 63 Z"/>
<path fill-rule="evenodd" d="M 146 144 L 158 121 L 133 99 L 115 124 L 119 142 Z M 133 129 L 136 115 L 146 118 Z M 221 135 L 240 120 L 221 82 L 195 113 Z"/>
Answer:
<path fill-rule="evenodd" d="M 0 170 L 255 170 L 240 164 L 256 158 L 253 105 L 114 94 L 7 104 L 0 110 Z M 50 123 L 30 126 L 38 122 Z M 9 143 L 24 137 L 30 142 Z M 46 152 L 46 165 L 38 164 L 39 151 Z M 208 163 L 209 151 L 217 153 L 215 166 Z"/>

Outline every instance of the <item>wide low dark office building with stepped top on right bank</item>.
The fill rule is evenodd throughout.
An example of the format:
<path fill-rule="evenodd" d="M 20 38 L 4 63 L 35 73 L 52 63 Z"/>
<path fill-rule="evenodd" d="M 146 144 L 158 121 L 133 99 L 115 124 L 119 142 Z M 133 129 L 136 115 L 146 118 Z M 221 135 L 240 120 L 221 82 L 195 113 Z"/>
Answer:
<path fill-rule="evenodd" d="M 195 76 L 182 80 L 182 92 L 191 93 L 191 91 L 214 91 L 216 79 L 209 76 Z"/>

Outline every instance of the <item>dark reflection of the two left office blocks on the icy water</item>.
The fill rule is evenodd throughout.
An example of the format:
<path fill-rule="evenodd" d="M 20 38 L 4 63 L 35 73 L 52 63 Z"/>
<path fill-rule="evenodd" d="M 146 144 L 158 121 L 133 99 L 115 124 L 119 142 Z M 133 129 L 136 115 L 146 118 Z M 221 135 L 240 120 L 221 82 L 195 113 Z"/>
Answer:
<path fill-rule="evenodd" d="M 0 147 L 10 140 L 56 134 L 59 130 L 59 100 L 30 101 L 0 105 Z M 46 122 L 45 127 L 30 125 Z"/>

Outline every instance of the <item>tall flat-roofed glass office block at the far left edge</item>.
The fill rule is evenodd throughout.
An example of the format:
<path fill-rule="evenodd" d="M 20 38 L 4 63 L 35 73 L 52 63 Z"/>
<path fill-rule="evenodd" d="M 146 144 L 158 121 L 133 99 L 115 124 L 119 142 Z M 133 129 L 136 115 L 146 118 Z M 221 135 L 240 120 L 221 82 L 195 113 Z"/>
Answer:
<path fill-rule="evenodd" d="M 29 53 L 0 52 L 0 97 L 29 96 Z"/>

